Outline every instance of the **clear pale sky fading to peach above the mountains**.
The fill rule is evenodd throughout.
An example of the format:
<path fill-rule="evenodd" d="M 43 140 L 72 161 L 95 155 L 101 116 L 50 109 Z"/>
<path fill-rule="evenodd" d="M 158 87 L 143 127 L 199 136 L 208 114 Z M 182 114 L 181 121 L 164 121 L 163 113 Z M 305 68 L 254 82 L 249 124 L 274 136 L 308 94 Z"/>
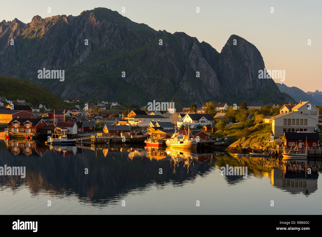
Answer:
<path fill-rule="evenodd" d="M 51 7 L 51 13 L 47 13 L 47 7 Z M 218 52 L 230 35 L 239 35 L 258 48 L 267 69 L 285 70 L 282 83 L 305 92 L 322 91 L 322 0 L 16 0 L 1 3 L 0 18 L 29 23 L 34 15 L 75 16 L 95 7 L 118 11 L 155 30 L 185 32 Z M 200 7 L 200 13 L 196 13 L 196 7 Z M 270 13 L 271 7 L 274 13 Z"/>

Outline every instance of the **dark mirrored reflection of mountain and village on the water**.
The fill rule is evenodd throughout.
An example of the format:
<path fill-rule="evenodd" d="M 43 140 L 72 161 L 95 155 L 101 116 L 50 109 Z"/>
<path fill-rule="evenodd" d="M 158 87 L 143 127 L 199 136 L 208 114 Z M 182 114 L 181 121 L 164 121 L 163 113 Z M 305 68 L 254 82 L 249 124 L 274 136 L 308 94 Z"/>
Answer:
<path fill-rule="evenodd" d="M 1 134 L 0 134 L 1 138 Z M 26 159 L 28 158 L 28 159 Z M 244 185 L 252 178 L 269 178 L 269 188 L 291 194 L 310 195 L 317 191 L 320 161 L 288 161 L 275 158 L 235 157 L 225 152 L 203 152 L 178 148 L 101 146 L 90 144 L 47 146 L 27 140 L 0 140 L 0 165 L 26 166 L 26 178 L 0 176 L 1 188 L 11 190 L 26 185 L 31 193 L 77 195 L 81 202 L 105 205 L 132 192 L 164 189 L 167 185 L 184 187 L 198 177 L 215 173 L 213 182 L 226 186 Z M 220 175 L 222 166 L 247 166 L 248 177 Z M 88 168 L 89 173 L 84 170 Z M 162 175 L 159 169 L 162 168 Z M 310 168 L 311 174 L 305 171 Z M 206 191 L 205 191 L 206 192 Z M 247 191 L 245 191 L 247 192 Z M 230 195 L 230 194 L 225 194 Z"/>

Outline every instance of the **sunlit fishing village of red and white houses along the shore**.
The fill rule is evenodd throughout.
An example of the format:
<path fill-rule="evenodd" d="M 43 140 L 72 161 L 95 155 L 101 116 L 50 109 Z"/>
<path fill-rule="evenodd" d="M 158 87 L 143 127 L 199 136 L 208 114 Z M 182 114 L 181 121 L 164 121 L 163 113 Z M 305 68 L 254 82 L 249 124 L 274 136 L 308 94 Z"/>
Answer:
<path fill-rule="evenodd" d="M 30 107 L 24 99 L 0 98 L 0 120 L 5 140 L 11 143 L 25 140 L 90 149 L 135 144 L 284 160 L 322 158 L 321 108 L 309 101 L 265 106 L 205 102 L 178 111 L 171 101 L 163 103 L 164 108 L 159 106 L 163 110 L 150 111 L 148 106 L 130 110 L 104 101 L 87 102 L 80 109 L 79 100 L 70 109 L 49 110 L 44 104 Z"/>

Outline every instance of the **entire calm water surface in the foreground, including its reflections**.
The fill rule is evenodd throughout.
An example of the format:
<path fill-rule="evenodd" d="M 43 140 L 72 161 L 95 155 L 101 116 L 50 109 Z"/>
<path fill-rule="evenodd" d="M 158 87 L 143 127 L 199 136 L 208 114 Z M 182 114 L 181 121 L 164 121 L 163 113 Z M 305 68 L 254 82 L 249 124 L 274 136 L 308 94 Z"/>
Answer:
<path fill-rule="evenodd" d="M 306 175 L 295 173 L 301 162 L 144 147 L 59 149 L 8 143 L 0 133 L 0 166 L 26 167 L 25 178 L 0 176 L 0 214 L 321 214 L 319 163 L 308 160 Z M 221 175 L 227 164 L 247 166 L 248 176 Z"/>

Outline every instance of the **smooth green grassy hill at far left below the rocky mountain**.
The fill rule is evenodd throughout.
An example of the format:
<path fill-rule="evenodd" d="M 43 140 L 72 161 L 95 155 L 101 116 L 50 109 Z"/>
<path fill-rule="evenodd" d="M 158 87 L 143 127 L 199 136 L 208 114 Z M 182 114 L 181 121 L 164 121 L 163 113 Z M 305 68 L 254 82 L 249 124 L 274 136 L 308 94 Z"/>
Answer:
<path fill-rule="evenodd" d="M 39 104 L 45 104 L 46 108 L 63 109 L 74 106 L 72 103 L 63 102 L 49 90 L 28 82 L 26 80 L 0 76 L 0 96 L 7 99 L 16 100 L 17 98 L 25 99 L 27 104 L 38 107 Z"/>

